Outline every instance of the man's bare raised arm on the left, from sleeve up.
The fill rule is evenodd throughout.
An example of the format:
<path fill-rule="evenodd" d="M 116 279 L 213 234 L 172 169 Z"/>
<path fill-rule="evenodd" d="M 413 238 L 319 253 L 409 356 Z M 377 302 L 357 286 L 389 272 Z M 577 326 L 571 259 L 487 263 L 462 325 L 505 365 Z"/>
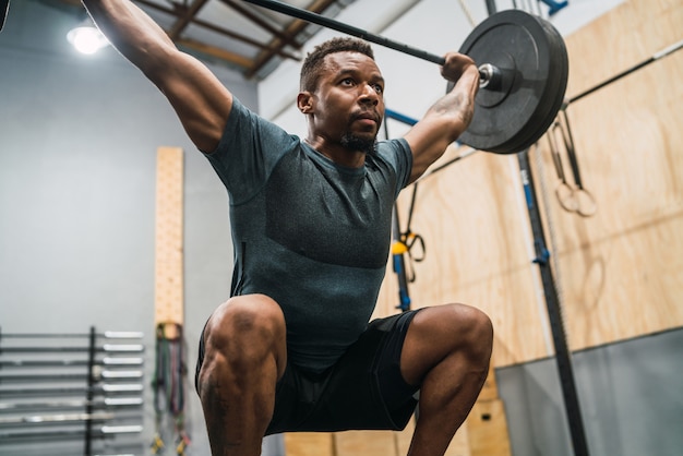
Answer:
<path fill-rule="evenodd" d="M 82 0 L 111 45 L 164 93 L 200 151 L 217 146 L 232 94 L 199 60 L 181 52 L 152 19 L 129 0 Z"/>

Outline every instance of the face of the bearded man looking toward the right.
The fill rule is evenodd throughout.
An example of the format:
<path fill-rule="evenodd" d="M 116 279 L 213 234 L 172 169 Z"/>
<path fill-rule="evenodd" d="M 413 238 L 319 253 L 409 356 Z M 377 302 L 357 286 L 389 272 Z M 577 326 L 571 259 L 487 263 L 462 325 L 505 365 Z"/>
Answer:
<path fill-rule="evenodd" d="M 325 57 L 326 70 L 313 94 L 314 133 L 332 143 L 371 152 L 384 117 L 384 79 L 359 52 Z"/>

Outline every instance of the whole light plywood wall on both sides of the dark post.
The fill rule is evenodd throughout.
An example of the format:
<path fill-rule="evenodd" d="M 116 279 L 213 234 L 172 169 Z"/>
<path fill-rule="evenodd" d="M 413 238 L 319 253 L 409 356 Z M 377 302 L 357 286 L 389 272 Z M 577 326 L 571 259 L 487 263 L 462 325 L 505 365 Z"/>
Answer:
<path fill-rule="evenodd" d="M 632 0 L 565 37 L 567 97 L 676 43 L 682 27 L 682 1 Z M 681 81 L 683 51 L 567 108 L 592 217 L 560 206 L 547 141 L 530 154 L 572 349 L 683 324 Z M 404 221 L 409 202 L 410 190 L 399 201 Z M 455 301 L 487 311 L 496 365 L 552 353 L 516 157 L 477 153 L 423 180 L 411 228 L 427 242 L 414 308 Z M 396 312 L 396 293 L 390 267 L 378 315 Z"/>

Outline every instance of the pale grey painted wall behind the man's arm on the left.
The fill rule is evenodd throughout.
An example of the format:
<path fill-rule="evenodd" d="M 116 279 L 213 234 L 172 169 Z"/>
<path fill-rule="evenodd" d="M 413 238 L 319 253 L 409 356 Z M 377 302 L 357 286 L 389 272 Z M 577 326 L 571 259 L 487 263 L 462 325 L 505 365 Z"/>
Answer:
<path fill-rule="evenodd" d="M 155 173 L 158 146 L 185 151 L 185 339 L 229 293 L 228 200 L 161 94 L 116 51 L 76 55 L 77 19 L 12 1 L 0 33 L 0 326 L 4 333 L 145 333 L 154 363 Z M 213 67 L 248 106 L 255 83 Z M 147 398 L 149 399 L 149 397 Z M 145 407 L 144 447 L 153 405 Z M 208 454 L 190 385 L 188 455 Z M 79 447 L 82 447 L 80 445 Z M 2 453 L 2 447 L 0 447 Z"/>

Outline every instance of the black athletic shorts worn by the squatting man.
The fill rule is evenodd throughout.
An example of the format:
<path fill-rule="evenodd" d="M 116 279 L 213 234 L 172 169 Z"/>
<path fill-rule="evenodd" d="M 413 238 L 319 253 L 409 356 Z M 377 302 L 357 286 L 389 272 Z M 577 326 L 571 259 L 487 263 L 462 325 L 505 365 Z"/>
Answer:
<path fill-rule="evenodd" d="M 417 406 L 414 396 L 419 386 L 404 381 L 400 352 L 417 312 L 370 322 L 346 353 L 322 373 L 287 363 L 276 385 L 275 411 L 266 435 L 404 429 Z M 202 334 L 197 376 L 204 358 L 203 339 Z"/>

